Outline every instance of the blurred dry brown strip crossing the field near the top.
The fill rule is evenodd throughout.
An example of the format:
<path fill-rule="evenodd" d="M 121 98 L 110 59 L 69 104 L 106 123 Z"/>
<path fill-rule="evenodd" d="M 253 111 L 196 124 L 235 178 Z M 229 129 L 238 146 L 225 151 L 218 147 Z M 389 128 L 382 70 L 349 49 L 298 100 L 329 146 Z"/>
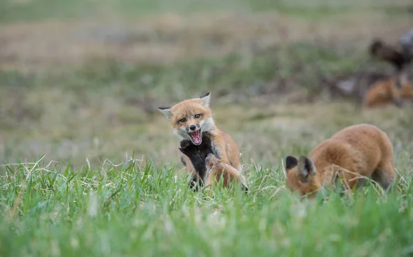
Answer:
<path fill-rule="evenodd" d="M 319 21 L 277 12 L 265 14 L 165 14 L 140 21 L 56 21 L 0 27 L 0 67 L 30 69 L 81 65 L 90 58 L 171 63 L 231 52 L 251 52 L 279 43 L 322 40 L 366 45 L 388 41 L 411 28 L 408 16 L 343 14 Z"/>

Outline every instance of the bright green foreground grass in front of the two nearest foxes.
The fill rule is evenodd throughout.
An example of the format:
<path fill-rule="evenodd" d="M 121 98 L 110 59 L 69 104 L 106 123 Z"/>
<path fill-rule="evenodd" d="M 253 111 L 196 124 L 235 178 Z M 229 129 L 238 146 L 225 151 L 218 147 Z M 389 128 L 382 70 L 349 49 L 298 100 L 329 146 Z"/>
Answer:
<path fill-rule="evenodd" d="M 259 165 L 259 164 L 256 164 Z M 188 190 L 172 166 L 56 170 L 7 166 L 1 178 L 1 256 L 410 256 L 410 179 L 381 194 L 297 201 L 279 167 L 246 170 L 251 194 Z M 379 193 L 377 193 L 379 192 Z"/>

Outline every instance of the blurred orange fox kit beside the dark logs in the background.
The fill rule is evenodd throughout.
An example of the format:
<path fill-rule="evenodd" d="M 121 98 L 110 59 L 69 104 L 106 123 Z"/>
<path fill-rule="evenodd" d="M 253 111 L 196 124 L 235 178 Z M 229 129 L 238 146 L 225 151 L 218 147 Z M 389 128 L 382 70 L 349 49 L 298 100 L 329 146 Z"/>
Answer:
<path fill-rule="evenodd" d="M 364 106 L 368 108 L 389 103 L 402 107 L 407 102 L 413 102 L 413 87 L 406 74 L 377 82 L 368 89 L 363 100 Z"/>

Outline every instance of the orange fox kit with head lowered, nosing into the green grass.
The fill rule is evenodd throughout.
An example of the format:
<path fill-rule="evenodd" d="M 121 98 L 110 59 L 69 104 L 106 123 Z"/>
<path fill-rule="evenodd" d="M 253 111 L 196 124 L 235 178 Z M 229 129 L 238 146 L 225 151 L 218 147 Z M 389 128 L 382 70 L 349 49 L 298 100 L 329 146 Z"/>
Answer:
<path fill-rule="evenodd" d="M 286 157 L 287 187 L 301 195 L 315 197 L 325 184 L 336 183 L 341 173 L 343 185 L 354 188 L 363 177 L 371 177 L 388 189 L 395 177 L 393 146 L 376 126 L 349 126 L 316 146 L 308 157 Z"/>

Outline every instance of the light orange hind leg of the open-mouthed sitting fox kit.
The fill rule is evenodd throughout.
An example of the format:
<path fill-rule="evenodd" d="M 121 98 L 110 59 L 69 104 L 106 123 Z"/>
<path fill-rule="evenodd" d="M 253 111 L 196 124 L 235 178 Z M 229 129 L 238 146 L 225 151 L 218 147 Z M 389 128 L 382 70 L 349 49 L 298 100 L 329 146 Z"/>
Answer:
<path fill-rule="evenodd" d="M 205 165 L 207 166 L 207 178 L 205 186 L 210 186 L 213 183 L 218 183 L 221 177 L 223 179 L 223 186 L 229 188 L 232 181 L 239 181 L 242 189 L 248 192 L 248 186 L 246 186 L 245 177 L 240 174 L 238 170 L 228 164 L 225 164 L 220 159 L 215 157 L 212 153 L 205 159 Z"/>

